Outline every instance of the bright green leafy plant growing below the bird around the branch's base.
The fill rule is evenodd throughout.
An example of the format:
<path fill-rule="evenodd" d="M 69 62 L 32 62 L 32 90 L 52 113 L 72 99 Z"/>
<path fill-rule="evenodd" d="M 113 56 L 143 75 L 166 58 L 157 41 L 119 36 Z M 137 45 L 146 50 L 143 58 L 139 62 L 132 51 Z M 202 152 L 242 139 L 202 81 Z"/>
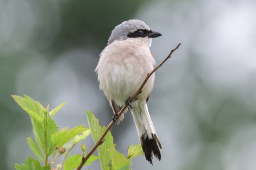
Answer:
<path fill-rule="evenodd" d="M 90 129 L 79 125 L 70 130 L 68 128 L 59 130 L 52 117 L 66 102 L 59 104 L 49 112 L 49 105 L 44 108 L 29 96 L 13 95 L 12 97 L 31 118 L 35 139 L 29 136 L 26 140 L 32 152 L 38 157 L 34 159 L 30 156 L 25 164 L 15 164 L 16 170 L 74 170 L 86 156 L 86 145 L 81 145 L 81 154 L 68 156 L 70 151 L 90 134 L 96 142 L 106 129 L 105 126 L 101 127 L 94 114 L 86 111 Z M 116 144 L 109 131 L 97 149 L 98 156 L 91 155 L 84 166 L 91 165 L 99 158 L 102 170 L 130 170 L 131 159 L 143 154 L 140 144 L 129 146 L 126 158 L 115 147 Z M 61 155 L 63 155 L 62 161 L 59 160 Z"/>

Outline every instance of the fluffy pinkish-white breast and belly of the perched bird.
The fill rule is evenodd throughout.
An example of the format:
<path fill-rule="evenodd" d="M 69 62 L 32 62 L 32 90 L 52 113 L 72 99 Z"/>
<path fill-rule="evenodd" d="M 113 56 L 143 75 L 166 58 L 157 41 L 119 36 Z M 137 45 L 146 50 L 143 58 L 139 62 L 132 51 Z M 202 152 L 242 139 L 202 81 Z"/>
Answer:
<path fill-rule="evenodd" d="M 149 47 L 138 39 L 114 41 L 101 53 L 96 71 L 100 89 L 109 100 L 118 105 L 132 96 L 146 75 L 154 69 L 155 60 Z M 154 86 L 152 75 L 139 95 L 139 101 L 145 101 Z"/>

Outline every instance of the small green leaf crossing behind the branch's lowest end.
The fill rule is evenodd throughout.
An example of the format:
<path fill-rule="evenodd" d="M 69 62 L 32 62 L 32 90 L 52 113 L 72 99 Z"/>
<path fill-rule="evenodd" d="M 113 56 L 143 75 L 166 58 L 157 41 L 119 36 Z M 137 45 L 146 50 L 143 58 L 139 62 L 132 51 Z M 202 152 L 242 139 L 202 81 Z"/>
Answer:
<path fill-rule="evenodd" d="M 91 155 L 83 166 L 91 165 L 91 162 L 97 159 L 98 159 L 98 156 Z M 70 156 L 64 163 L 64 167 L 63 167 L 64 170 L 73 170 L 78 168 L 81 160 L 82 160 L 82 156 L 79 154 Z"/>

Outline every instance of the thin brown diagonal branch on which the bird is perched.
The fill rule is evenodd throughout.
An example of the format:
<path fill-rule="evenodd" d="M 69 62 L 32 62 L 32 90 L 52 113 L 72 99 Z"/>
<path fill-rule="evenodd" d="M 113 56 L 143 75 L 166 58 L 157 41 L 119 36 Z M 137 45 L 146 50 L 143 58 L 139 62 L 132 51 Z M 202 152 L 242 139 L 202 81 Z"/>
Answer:
<path fill-rule="evenodd" d="M 136 97 L 138 96 L 138 94 L 140 93 L 140 91 L 142 90 L 142 88 L 144 87 L 144 85 L 147 83 L 149 77 L 150 77 L 158 68 L 160 68 L 166 60 L 168 60 L 168 59 L 171 57 L 172 53 L 178 49 L 178 47 L 180 46 L 180 44 L 181 44 L 181 43 L 179 43 L 179 44 L 177 45 L 177 47 L 174 48 L 174 49 L 167 55 L 167 57 L 166 57 L 157 67 L 155 67 L 150 73 L 147 74 L 147 76 L 146 76 L 146 78 L 144 79 L 143 83 L 140 85 L 140 87 L 138 88 L 138 90 L 136 91 L 136 93 L 133 95 L 132 101 L 136 99 Z M 124 106 L 122 107 L 122 109 L 118 112 L 118 115 L 117 115 L 116 119 L 118 119 L 118 118 L 120 117 L 120 115 L 125 111 L 126 108 L 127 108 L 126 105 L 124 105 Z M 88 158 L 94 153 L 94 151 L 98 148 L 98 146 L 103 143 L 103 141 L 102 141 L 103 138 L 107 135 L 108 131 L 109 131 L 110 128 L 113 126 L 113 124 L 114 124 L 114 121 L 112 120 L 112 121 L 109 123 L 109 125 L 107 126 L 105 132 L 101 135 L 101 137 L 98 139 L 98 141 L 96 142 L 96 144 L 94 145 L 94 147 L 91 149 L 91 151 L 90 151 L 85 157 L 82 158 L 82 161 L 80 162 L 80 164 L 79 164 L 77 170 L 81 170 L 81 168 L 83 167 L 83 165 L 85 164 L 85 162 L 88 160 Z"/>

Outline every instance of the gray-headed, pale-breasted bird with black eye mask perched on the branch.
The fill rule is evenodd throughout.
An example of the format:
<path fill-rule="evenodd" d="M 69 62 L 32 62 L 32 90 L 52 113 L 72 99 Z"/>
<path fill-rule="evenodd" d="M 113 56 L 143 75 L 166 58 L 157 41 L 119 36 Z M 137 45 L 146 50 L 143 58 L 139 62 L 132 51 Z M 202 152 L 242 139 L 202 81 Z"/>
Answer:
<path fill-rule="evenodd" d="M 130 96 L 138 90 L 147 74 L 154 69 L 156 62 L 149 48 L 152 38 L 160 35 L 152 31 L 143 21 L 132 19 L 122 22 L 111 32 L 95 69 L 99 88 L 103 90 L 114 114 L 116 115 L 125 104 L 131 109 L 143 152 L 151 164 L 153 154 L 158 160 L 161 159 L 159 149 L 162 149 L 147 106 L 154 86 L 155 73 L 149 78 L 135 101 L 130 101 Z M 124 113 L 118 120 L 114 116 L 113 120 L 118 124 L 123 118 Z"/>

